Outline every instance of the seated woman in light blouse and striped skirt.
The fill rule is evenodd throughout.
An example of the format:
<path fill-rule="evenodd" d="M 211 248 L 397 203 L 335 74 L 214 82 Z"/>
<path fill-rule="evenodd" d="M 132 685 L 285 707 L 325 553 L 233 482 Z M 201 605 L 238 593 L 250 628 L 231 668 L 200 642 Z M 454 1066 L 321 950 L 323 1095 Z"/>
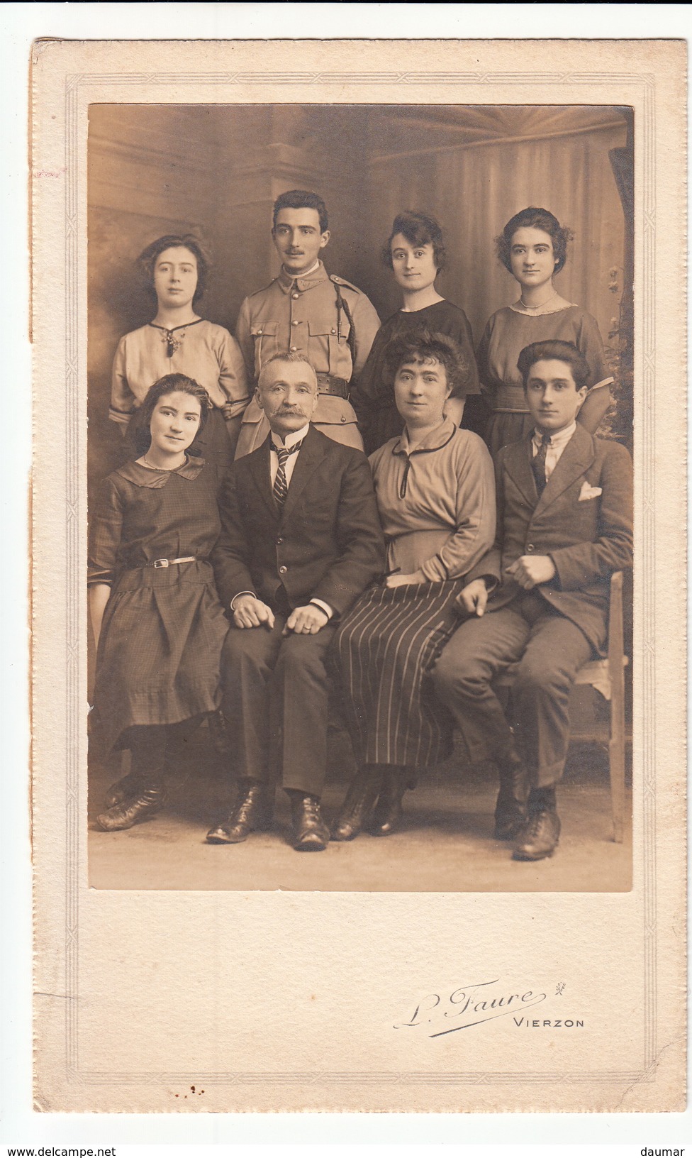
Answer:
<path fill-rule="evenodd" d="M 458 346 L 428 330 L 402 335 L 388 352 L 404 431 L 370 455 L 388 540 L 388 574 L 345 617 L 334 650 L 359 771 L 332 840 L 369 823 L 385 836 L 418 770 L 451 750 L 451 724 L 428 673 L 458 626 L 464 576 L 495 535 L 493 464 L 483 440 L 446 409 L 463 389 Z M 373 808 L 377 806 L 373 813 Z"/>

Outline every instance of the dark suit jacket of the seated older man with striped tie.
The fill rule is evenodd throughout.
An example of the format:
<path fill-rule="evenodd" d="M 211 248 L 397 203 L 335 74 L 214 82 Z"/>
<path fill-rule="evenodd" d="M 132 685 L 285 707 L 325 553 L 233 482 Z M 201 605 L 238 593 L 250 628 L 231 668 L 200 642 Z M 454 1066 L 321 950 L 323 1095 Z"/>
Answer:
<path fill-rule="evenodd" d="M 385 566 L 368 460 L 310 426 L 280 513 L 271 454 L 267 439 L 233 463 L 221 488 L 212 557 L 221 601 L 228 608 L 251 591 L 275 607 L 284 585 L 292 608 L 321 599 L 343 615 Z"/>

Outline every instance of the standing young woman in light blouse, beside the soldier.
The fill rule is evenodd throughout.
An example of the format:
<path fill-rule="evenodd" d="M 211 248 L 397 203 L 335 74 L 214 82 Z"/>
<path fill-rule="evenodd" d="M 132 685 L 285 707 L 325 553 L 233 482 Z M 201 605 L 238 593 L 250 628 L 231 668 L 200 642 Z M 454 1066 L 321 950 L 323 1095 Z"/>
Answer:
<path fill-rule="evenodd" d="M 193 378 L 213 403 L 196 449 L 221 483 L 233 462 L 249 389 L 235 338 L 196 312 L 205 291 L 208 258 L 193 235 L 167 234 L 142 250 L 138 266 L 156 302 L 156 314 L 147 325 L 120 339 L 109 417 L 120 425 L 132 450 L 137 412 L 153 382 L 174 373 Z"/>

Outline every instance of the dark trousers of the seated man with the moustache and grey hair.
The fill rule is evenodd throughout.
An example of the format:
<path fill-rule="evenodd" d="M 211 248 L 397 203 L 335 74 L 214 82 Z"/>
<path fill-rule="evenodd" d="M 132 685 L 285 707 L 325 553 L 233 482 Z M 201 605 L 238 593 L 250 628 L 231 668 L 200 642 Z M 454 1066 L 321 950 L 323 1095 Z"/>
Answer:
<path fill-rule="evenodd" d="M 274 626 L 231 626 L 221 653 L 223 714 L 237 743 L 238 775 L 268 783 L 278 754 L 285 789 L 319 797 L 326 770 L 326 657 L 334 636 L 282 636 Z"/>

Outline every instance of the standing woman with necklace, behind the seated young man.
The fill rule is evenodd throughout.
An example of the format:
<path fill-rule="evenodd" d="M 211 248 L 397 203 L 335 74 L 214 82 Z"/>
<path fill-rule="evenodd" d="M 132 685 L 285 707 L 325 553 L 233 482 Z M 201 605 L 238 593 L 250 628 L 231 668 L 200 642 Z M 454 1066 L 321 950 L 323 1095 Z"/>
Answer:
<path fill-rule="evenodd" d="M 567 261 L 570 240 L 569 229 L 549 210 L 536 206 L 516 213 L 495 239 L 498 257 L 518 283 L 521 294 L 511 306 L 493 314 L 478 349 L 480 382 L 492 410 L 486 442 L 493 457 L 531 428 L 517 358 L 532 342 L 572 342 L 588 361 L 589 393 L 577 422 L 590 434 L 610 406 L 612 375 L 598 323 L 581 306 L 562 298 L 553 285 L 553 277 Z"/>

